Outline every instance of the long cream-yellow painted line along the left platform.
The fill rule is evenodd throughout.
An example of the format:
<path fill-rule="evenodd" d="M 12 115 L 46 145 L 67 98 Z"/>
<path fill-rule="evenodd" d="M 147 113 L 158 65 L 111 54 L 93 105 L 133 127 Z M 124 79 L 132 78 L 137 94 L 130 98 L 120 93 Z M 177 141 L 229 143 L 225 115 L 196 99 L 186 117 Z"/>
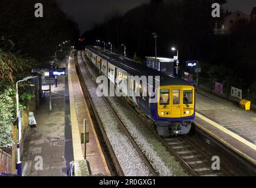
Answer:
<path fill-rule="evenodd" d="M 83 160 L 84 159 L 83 150 L 81 147 L 80 132 L 79 132 L 79 127 L 77 122 L 76 105 L 75 105 L 71 73 L 70 73 L 71 53 L 68 58 L 68 89 L 69 89 L 69 95 L 70 95 L 70 121 L 71 121 L 71 130 L 72 130 L 73 153 L 74 153 L 74 160 Z"/>

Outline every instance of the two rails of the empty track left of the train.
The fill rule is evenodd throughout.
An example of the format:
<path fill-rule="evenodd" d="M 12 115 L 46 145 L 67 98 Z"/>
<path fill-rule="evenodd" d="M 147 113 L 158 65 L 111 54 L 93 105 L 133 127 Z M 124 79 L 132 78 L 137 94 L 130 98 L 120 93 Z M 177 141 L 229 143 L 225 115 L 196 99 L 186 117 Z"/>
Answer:
<path fill-rule="evenodd" d="M 90 78 L 93 80 L 93 83 L 94 85 L 96 86 L 97 88 L 97 83 L 94 82 L 94 78 L 93 76 L 91 75 L 90 71 L 88 70 L 87 68 L 87 65 L 86 63 L 84 63 L 87 71 L 88 71 L 88 75 L 90 76 Z M 76 65 L 77 68 L 78 68 L 78 65 Z M 78 68 L 78 73 L 80 73 L 81 75 L 81 72 L 80 72 L 80 68 Z M 96 108 L 94 107 L 93 105 L 93 102 L 90 98 L 90 94 L 87 90 L 87 87 L 86 87 L 86 83 L 84 82 L 84 80 L 81 78 L 81 76 L 79 76 L 80 78 L 80 81 L 82 81 L 81 83 L 83 84 L 83 90 L 84 90 L 84 93 L 86 95 L 86 98 L 88 100 L 88 102 L 90 103 L 90 107 L 91 109 L 93 109 L 93 113 L 94 113 L 94 116 L 96 117 L 96 120 L 97 122 L 99 123 L 99 127 L 100 127 L 100 130 L 101 130 L 101 133 L 104 137 L 104 141 L 106 142 L 106 145 L 109 149 L 109 152 L 110 152 L 110 156 L 111 156 L 111 159 L 113 160 L 113 164 L 114 164 L 114 167 L 116 168 L 116 171 L 117 171 L 117 174 L 119 176 L 124 176 L 124 173 L 123 173 L 123 170 L 122 170 L 122 167 L 120 166 L 120 163 L 117 159 L 117 156 L 116 154 L 114 153 L 114 150 L 113 150 L 113 147 L 111 146 L 111 143 L 110 143 L 110 140 L 108 139 L 107 137 L 107 134 L 104 130 L 104 126 L 102 125 L 101 123 L 101 120 L 100 120 L 100 117 L 99 115 L 97 115 L 97 110 Z M 142 158 L 143 162 L 146 164 L 147 168 L 149 169 L 149 172 L 152 174 L 152 176 L 158 176 L 158 174 L 156 173 L 155 169 L 153 169 L 152 165 L 150 164 L 149 160 L 147 159 L 147 157 L 143 154 L 142 150 L 140 150 L 140 147 L 136 144 L 136 142 L 134 141 L 133 137 L 130 135 L 130 133 L 128 132 L 128 130 L 126 129 L 126 127 L 124 126 L 124 124 L 122 123 L 122 120 L 120 120 L 119 116 L 117 115 L 117 113 L 114 111 L 114 109 L 111 107 L 110 103 L 109 103 L 109 100 L 107 98 L 105 98 L 104 96 L 102 97 L 104 99 L 104 101 L 106 102 L 108 108 L 111 110 L 111 113 L 112 115 L 114 115 L 115 119 L 117 120 L 117 122 L 119 123 L 119 127 L 120 129 L 122 129 L 122 132 L 124 133 L 124 135 L 127 136 L 127 138 L 129 139 L 130 143 L 132 143 L 134 149 L 136 149 L 137 153 L 139 154 L 139 156 Z"/>

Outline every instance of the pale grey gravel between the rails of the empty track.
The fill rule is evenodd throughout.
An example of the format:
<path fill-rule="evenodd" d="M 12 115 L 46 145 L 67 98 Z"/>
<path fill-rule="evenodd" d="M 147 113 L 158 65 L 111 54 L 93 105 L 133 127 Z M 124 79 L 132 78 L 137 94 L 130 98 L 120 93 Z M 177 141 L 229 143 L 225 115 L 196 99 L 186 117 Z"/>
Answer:
<path fill-rule="evenodd" d="M 86 87 L 92 102 L 96 108 L 96 111 L 100 117 L 101 123 L 104 126 L 106 134 L 110 140 L 111 146 L 113 147 L 114 153 L 119 160 L 120 166 L 122 167 L 125 176 L 151 176 L 146 164 L 140 158 L 136 149 L 134 149 L 132 143 L 130 143 L 121 130 L 116 118 L 111 114 L 108 106 L 103 98 L 96 95 L 96 86 L 94 81 L 88 75 L 88 70 L 84 68 L 83 60 L 81 59 L 80 52 L 78 52 L 78 63 L 83 72 L 84 80 L 86 80 Z M 83 54 L 84 55 L 84 54 Z"/>

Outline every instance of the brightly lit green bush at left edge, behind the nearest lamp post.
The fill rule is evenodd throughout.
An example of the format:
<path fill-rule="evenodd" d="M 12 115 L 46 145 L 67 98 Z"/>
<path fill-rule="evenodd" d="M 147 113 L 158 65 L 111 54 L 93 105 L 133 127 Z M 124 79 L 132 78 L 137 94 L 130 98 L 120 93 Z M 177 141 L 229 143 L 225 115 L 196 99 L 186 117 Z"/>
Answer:
<path fill-rule="evenodd" d="M 11 122 L 15 120 L 15 90 L 8 88 L 0 95 L 0 147 L 11 145 Z"/>

